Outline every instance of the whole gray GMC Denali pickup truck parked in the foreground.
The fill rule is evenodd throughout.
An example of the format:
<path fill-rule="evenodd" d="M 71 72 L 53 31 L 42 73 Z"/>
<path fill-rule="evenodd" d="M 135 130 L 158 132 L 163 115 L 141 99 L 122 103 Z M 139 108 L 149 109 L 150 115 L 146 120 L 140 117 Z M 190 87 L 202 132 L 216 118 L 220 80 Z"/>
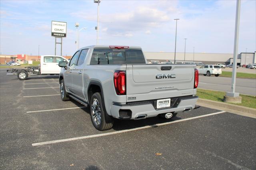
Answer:
<path fill-rule="evenodd" d="M 196 65 L 147 64 L 140 47 L 83 47 L 59 66 L 61 99 L 89 106 L 98 130 L 112 128 L 113 117 L 170 119 L 197 108 Z"/>

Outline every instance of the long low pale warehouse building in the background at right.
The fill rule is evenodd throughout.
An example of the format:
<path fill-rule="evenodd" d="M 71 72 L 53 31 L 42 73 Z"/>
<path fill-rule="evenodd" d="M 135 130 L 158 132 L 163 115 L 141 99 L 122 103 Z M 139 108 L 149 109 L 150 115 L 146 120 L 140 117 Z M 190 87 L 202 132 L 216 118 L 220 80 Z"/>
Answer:
<path fill-rule="evenodd" d="M 174 61 L 173 52 L 144 52 L 148 61 Z M 238 54 L 238 65 L 256 63 L 256 52 Z M 176 53 L 176 61 L 184 61 L 184 53 Z M 185 61 L 202 62 L 204 64 L 233 63 L 233 54 L 227 53 L 186 53 Z"/>

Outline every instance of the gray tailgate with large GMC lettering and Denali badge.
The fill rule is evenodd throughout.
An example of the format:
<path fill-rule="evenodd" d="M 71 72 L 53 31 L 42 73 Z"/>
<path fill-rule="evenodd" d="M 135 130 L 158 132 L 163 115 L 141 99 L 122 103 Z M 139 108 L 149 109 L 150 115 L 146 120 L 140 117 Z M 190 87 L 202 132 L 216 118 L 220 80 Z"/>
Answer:
<path fill-rule="evenodd" d="M 196 65 L 127 65 L 126 101 L 193 95 Z M 170 69 L 170 70 L 166 70 Z"/>

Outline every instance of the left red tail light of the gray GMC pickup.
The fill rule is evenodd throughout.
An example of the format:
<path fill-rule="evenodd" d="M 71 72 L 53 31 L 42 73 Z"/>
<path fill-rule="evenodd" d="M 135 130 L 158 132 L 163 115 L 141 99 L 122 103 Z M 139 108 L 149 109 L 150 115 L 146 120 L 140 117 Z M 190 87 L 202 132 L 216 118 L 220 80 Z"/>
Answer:
<path fill-rule="evenodd" d="M 114 86 L 117 95 L 126 94 L 126 73 L 125 71 L 114 72 Z"/>

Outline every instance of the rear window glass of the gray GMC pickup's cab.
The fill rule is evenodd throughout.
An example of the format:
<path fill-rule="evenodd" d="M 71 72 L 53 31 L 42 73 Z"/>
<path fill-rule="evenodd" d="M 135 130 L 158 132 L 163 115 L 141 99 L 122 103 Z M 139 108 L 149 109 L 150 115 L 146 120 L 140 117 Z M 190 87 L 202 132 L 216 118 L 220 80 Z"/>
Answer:
<path fill-rule="evenodd" d="M 140 49 L 94 49 L 90 64 L 145 64 Z"/>

